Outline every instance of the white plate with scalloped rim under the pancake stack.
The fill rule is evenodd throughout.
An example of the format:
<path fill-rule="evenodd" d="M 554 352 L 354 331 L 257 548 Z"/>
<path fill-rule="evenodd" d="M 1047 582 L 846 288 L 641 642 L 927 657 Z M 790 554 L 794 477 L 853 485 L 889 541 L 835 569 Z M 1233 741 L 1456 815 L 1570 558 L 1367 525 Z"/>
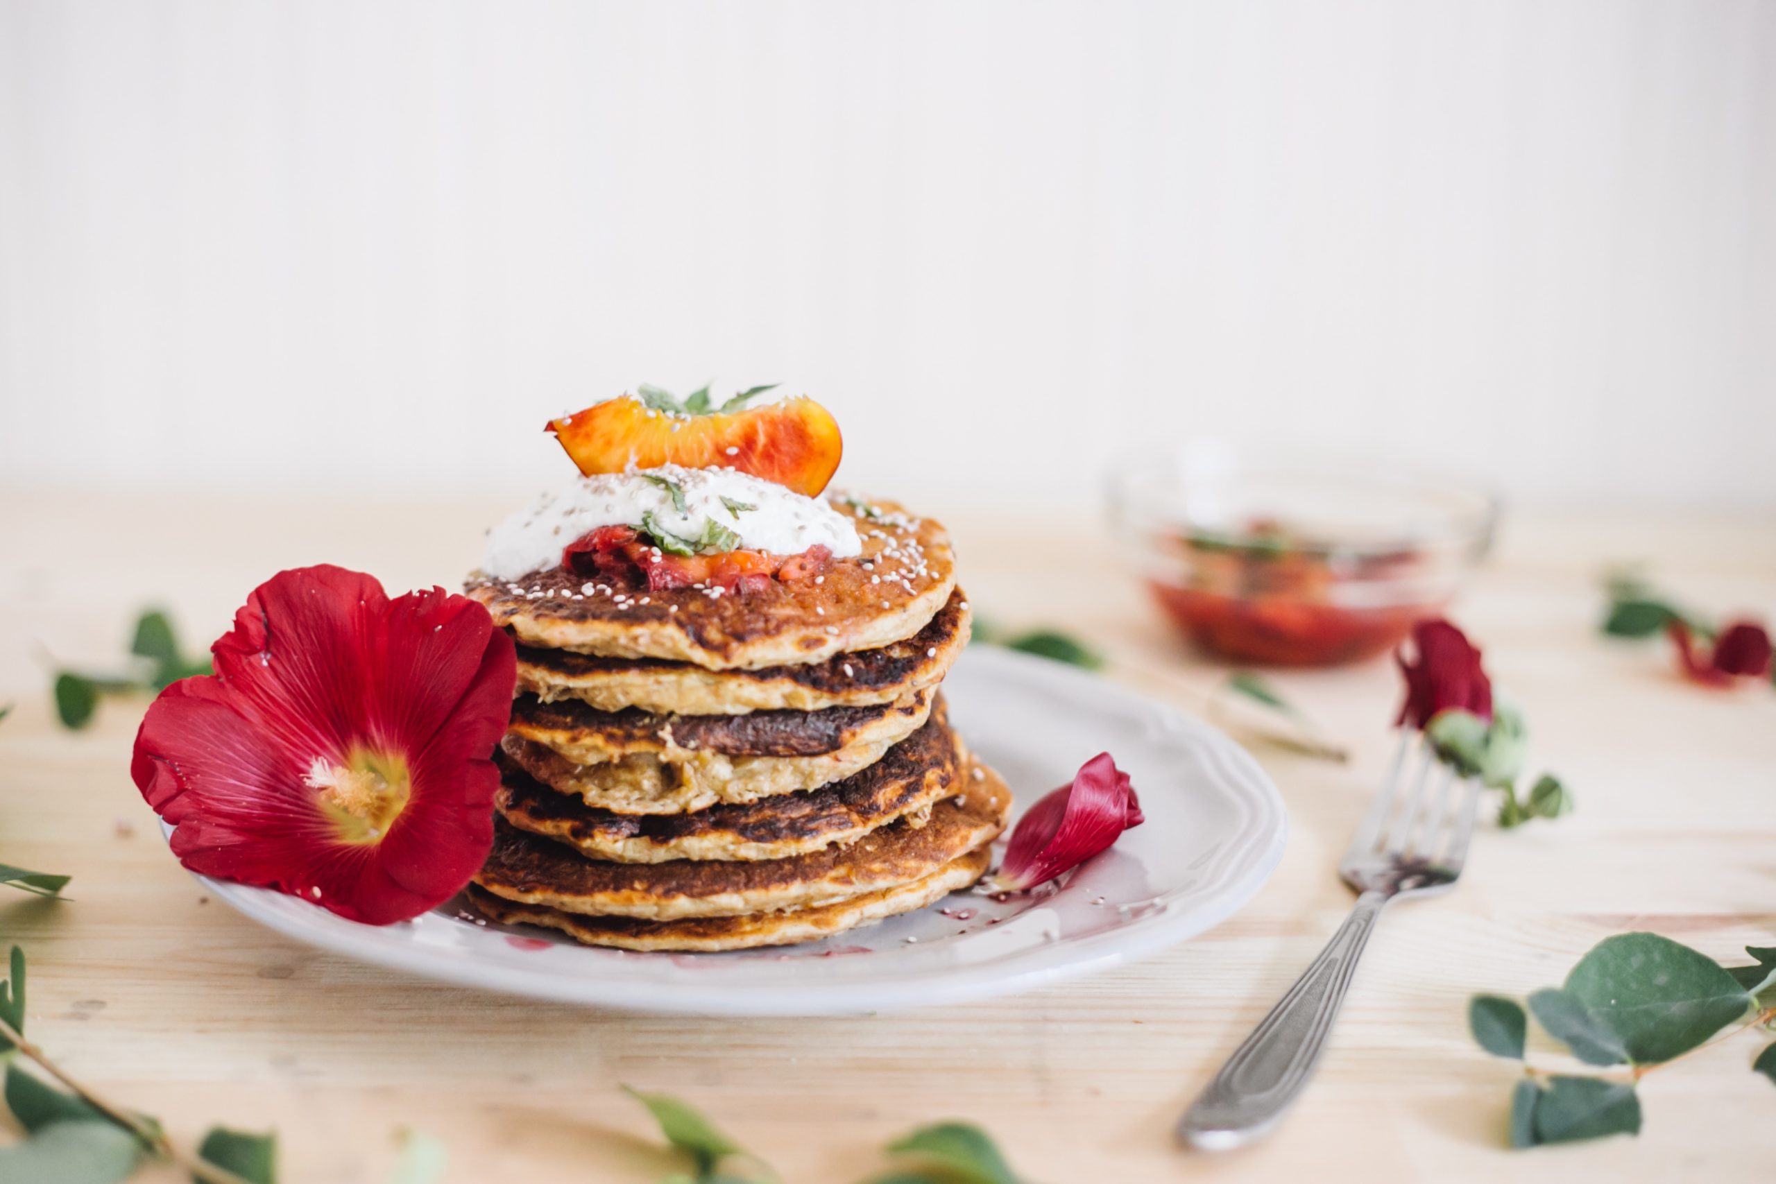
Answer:
<path fill-rule="evenodd" d="M 476 923 L 455 904 L 371 927 L 295 896 L 199 877 L 222 900 L 321 950 L 490 991 L 638 1012 L 833 1015 L 1023 991 L 1115 966 L 1231 916 L 1259 889 L 1288 822 L 1270 777 L 1220 731 L 1114 683 L 973 646 L 943 685 L 950 721 L 1011 785 L 1016 809 L 1110 751 L 1146 824 L 1064 886 L 922 912 L 808 946 L 627 953 Z"/>

